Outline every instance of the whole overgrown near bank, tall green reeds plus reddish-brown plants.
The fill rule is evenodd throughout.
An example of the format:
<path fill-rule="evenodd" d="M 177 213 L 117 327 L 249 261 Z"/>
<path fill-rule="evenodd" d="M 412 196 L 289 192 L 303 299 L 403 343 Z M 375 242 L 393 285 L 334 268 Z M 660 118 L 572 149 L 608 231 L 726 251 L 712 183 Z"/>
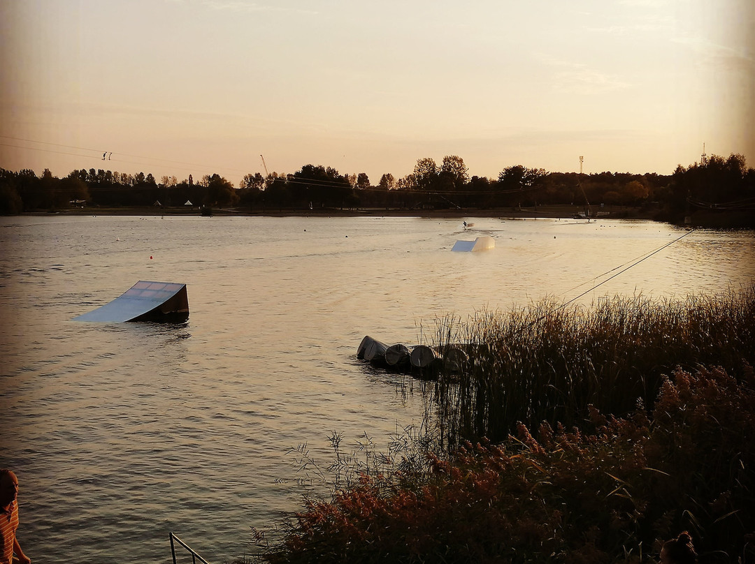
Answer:
<path fill-rule="evenodd" d="M 470 360 L 414 454 L 307 502 L 259 559 L 657 562 L 689 530 L 701 562 L 753 561 L 753 327 L 755 286 L 439 320 Z"/>

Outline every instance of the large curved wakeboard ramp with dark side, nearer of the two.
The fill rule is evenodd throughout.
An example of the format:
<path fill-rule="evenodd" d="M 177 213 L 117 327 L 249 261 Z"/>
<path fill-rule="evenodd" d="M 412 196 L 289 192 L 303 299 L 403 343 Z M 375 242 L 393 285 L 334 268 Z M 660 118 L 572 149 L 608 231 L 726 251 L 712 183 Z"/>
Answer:
<path fill-rule="evenodd" d="M 186 284 L 148 282 L 140 280 L 100 308 L 74 317 L 74 321 L 125 321 L 180 322 L 189 318 L 189 298 Z"/>

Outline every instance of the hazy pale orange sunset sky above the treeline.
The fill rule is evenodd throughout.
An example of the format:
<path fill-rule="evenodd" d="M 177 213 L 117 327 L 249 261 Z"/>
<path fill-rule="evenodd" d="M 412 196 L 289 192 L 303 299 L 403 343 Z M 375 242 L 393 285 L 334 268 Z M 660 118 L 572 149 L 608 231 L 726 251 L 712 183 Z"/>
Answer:
<path fill-rule="evenodd" d="M 0 167 L 755 166 L 752 0 L 0 0 Z M 103 152 L 112 152 L 107 162 Z"/>

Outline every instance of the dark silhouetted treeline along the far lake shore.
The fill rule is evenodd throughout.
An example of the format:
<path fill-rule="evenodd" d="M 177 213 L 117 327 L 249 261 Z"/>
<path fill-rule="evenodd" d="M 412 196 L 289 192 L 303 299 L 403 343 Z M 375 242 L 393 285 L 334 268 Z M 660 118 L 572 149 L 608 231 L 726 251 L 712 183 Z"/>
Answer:
<path fill-rule="evenodd" d="M 249 173 L 239 186 L 219 174 L 179 181 L 151 173 L 73 170 L 58 178 L 49 170 L 0 169 L 0 213 L 60 211 L 72 207 L 156 207 L 196 210 L 233 208 L 248 213 L 303 210 L 497 210 L 569 204 L 575 207 L 636 207 L 655 219 L 681 222 L 698 214 L 729 218 L 732 226 L 755 226 L 755 170 L 742 155 L 713 155 L 671 175 L 655 173 L 558 173 L 515 165 L 498 178 L 470 176 L 464 160 L 447 155 L 441 164 L 421 158 L 414 171 L 373 184 L 365 173 L 341 174 L 307 164 L 294 173 Z M 726 225 L 727 221 L 723 224 Z"/>

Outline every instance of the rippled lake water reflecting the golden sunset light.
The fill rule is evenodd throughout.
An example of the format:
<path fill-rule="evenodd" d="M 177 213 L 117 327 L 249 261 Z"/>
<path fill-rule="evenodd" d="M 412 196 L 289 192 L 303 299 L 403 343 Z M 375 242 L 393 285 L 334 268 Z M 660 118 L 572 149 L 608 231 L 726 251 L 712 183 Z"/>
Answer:
<path fill-rule="evenodd" d="M 327 466 L 333 431 L 344 450 L 365 432 L 381 449 L 421 423 L 417 388 L 356 360 L 365 335 L 411 345 L 451 313 L 755 280 L 751 231 L 659 250 L 686 231 L 466 219 L 0 218 L 0 465 L 20 480 L 26 553 L 171 562 L 173 531 L 211 562 L 248 554 L 250 526 L 317 488 L 289 449 Z M 451 252 L 480 235 L 495 249 Z M 137 280 L 187 284 L 189 321 L 71 320 Z"/>

